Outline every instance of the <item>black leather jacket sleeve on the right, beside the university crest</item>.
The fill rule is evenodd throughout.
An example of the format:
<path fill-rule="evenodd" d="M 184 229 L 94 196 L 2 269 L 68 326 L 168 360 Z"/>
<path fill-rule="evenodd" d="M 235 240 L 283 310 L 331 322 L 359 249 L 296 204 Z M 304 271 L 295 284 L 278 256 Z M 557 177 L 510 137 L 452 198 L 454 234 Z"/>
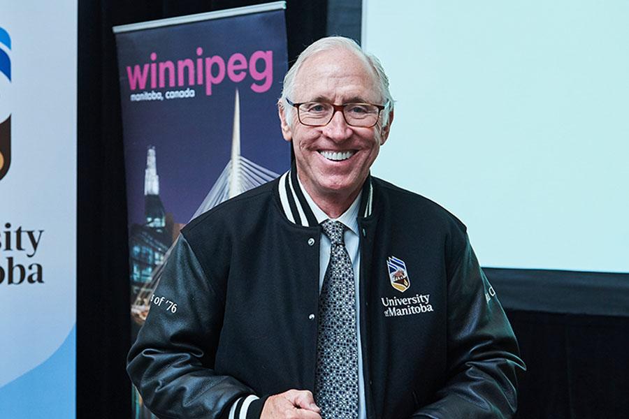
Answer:
<path fill-rule="evenodd" d="M 413 418 L 511 418 L 526 370 L 511 325 L 469 240 L 448 283 L 448 366 L 437 400 Z"/>

